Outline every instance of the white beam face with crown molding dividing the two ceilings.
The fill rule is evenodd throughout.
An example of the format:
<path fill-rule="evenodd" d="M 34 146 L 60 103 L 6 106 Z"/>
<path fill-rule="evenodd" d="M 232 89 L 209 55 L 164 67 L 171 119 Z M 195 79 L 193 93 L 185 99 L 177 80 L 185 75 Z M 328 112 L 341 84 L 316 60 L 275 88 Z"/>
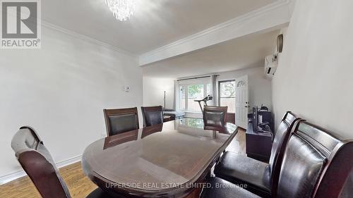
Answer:
<path fill-rule="evenodd" d="M 209 37 L 210 35 L 212 36 L 212 35 L 218 34 L 218 32 L 225 32 L 228 30 L 234 30 L 234 27 L 235 28 L 238 27 L 238 29 L 239 29 L 239 27 L 242 27 L 244 25 L 249 26 L 250 23 L 252 23 L 251 25 L 253 25 L 253 20 L 263 19 L 262 18 L 263 16 L 265 16 L 264 18 L 266 18 L 266 16 L 268 16 L 269 20 L 274 20 L 273 19 L 274 14 L 278 13 L 278 16 L 282 17 L 283 19 L 282 19 L 282 21 L 277 22 L 277 25 L 283 25 L 285 23 L 289 23 L 289 19 L 291 16 L 291 12 L 289 11 L 289 4 L 292 1 L 293 0 L 275 1 L 272 4 L 268 4 L 267 6 L 263 6 L 262 8 L 258 8 L 254 11 L 246 13 L 242 16 L 237 17 L 237 18 L 227 20 L 224 23 L 220 23 L 218 25 L 210 27 L 210 28 L 203 30 L 201 32 L 197 32 L 196 34 L 190 35 L 190 36 L 185 37 L 183 39 L 179 39 L 176 42 L 172 42 L 170 44 L 164 45 L 164 46 L 159 47 L 157 49 L 154 49 L 152 51 L 148 51 L 145 54 L 141 54 L 139 56 L 139 65 L 144 66 L 144 65 L 156 62 L 156 61 L 161 61 L 165 58 L 179 56 L 181 54 L 185 54 L 190 51 L 202 49 L 204 47 L 208 47 L 210 45 L 217 44 L 220 42 L 225 42 L 229 39 L 234 39 L 234 38 L 241 37 L 244 35 L 252 34 L 252 33 L 254 33 L 254 31 L 251 29 L 254 29 L 254 28 L 249 27 L 249 32 L 247 34 L 235 35 L 234 37 L 228 37 L 226 39 L 217 38 L 214 41 L 213 40 L 201 41 L 201 39 L 203 39 L 204 37 Z M 273 25 L 273 24 L 270 24 L 270 25 Z M 270 27 L 275 27 L 275 26 L 276 26 L 276 24 L 273 26 L 270 26 Z M 268 28 L 270 29 L 270 27 L 268 27 Z M 260 31 L 261 30 L 257 30 L 256 32 L 260 32 Z M 216 40 L 217 40 L 217 42 L 216 42 Z M 198 42 L 199 47 L 194 47 L 193 49 L 191 49 L 189 51 L 186 51 L 186 50 L 183 51 L 183 50 L 178 49 L 178 48 L 181 48 L 183 45 L 185 45 L 186 48 L 189 45 L 189 48 L 190 48 L 190 45 L 193 42 Z M 200 44 L 200 42 L 205 42 L 205 44 Z M 174 50 L 177 50 L 178 53 L 175 53 Z"/>

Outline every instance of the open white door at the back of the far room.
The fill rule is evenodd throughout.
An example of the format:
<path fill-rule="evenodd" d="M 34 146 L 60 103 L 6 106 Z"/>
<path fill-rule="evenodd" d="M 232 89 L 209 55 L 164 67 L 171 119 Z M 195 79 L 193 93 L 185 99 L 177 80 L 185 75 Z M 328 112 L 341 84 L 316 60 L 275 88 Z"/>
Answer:
<path fill-rule="evenodd" d="M 235 124 L 241 128 L 248 127 L 248 75 L 235 80 Z"/>

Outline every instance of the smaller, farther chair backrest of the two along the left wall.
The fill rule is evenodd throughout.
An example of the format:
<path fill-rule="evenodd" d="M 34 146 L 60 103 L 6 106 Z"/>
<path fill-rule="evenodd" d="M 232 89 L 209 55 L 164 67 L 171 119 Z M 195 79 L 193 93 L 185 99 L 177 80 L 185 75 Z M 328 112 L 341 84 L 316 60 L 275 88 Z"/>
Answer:
<path fill-rule="evenodd" d="M 141 110 L 144 127 L 163 123 L 162 106 L 141 106 Z"/>

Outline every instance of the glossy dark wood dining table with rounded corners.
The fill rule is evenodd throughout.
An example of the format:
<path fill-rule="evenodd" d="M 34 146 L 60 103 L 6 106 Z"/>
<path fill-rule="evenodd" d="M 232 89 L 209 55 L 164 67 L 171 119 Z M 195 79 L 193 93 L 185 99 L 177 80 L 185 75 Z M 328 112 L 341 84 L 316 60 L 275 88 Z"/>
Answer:
<path fill-rule="evenodd" d="M 83 153 L 83 171 L 112 197 L 188 197 L 203 187 L 237 126 L 207 130 L 182 118 L 97 140 Z"/>

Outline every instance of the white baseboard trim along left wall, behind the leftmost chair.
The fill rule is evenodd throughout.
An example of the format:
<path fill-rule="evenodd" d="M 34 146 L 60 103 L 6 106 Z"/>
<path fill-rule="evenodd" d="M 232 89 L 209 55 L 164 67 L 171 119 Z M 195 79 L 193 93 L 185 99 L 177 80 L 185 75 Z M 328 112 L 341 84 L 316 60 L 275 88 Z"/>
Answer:
<path fill-rule="evenodd" d="M 81 158 L 82 158 L 82 155 L 78 155 L 78 156 L 74 156 L 74 157 L 72 157 L 70 159 L 66 159 L 64 161 L 60 161 L 60 162 L 56 163 L 56 167 L 62 168 L 64 166 L 68 166 L 70 164 L 73 164 L 73 163 L 76 163 L 78 161 L 81 161 Z M 16 172 L 9 173 L 7 175 L 1 176 L 0 177 L 0 185 L 4 185 L 7 182 L 11 182 L 11 181 L 16 180 L 18 178 L 22 178 L 25 175 L 27 175 L 25 173 L 25 171 L 20 170 L 20 171 L 16 171 Z"/>

